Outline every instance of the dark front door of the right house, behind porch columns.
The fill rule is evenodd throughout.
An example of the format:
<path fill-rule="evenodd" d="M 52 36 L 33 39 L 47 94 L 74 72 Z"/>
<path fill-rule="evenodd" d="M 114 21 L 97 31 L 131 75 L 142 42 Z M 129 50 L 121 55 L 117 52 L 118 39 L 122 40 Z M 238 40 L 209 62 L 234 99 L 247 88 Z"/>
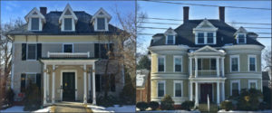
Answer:
<path fill-rule="evenodd" d="M 212 98 L 212 84 L 200 84 L 200 102 L 207 102 L 209 95 L 209 101 Z"/>

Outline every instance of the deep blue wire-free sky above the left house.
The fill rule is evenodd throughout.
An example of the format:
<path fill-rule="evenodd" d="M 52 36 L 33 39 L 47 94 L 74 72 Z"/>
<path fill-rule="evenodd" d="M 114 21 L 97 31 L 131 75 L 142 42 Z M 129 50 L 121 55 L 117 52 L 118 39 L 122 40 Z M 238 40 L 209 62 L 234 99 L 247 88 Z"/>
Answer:
<path fill-rule="evenodd" d="M 88 14 L 95 14 L 100 7 L 112 14 L 111 24 L 119 25 L 114 15 L 115 7 L 122 15 L 135 12 L 135 2 L 132 1 L 1 1 L 1 22 L 9 22 L 20 17 L 24 20 L 24 16 L 28 14 L 34 7 L 47 7 L 47 13 L 50 11 L 63 11 L 65 6 L 70 4 L 73 11 L 85 11 Z"/>

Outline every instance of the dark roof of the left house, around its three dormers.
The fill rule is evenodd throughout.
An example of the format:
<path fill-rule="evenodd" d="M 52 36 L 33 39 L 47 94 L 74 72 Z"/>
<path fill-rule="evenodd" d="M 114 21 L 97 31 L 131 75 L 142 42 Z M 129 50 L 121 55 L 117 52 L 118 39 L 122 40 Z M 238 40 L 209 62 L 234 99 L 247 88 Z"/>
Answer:
<path fill-rule="evenodd" d="M 24 24 L 22 27 L 17 28 L 8 34 L 40 34 L 40 35 L 89 35 L 89 34 L 99 34 L 99 33 L 118 33 L 120 29 L 109 24 L 108 32 L 95 32 L 93 25 L 90 23 L 92 19 L 91 14 L 87 14 L 84 11 L 74 11 L 73 12 L 77 17 L 78 21 L 75 24 L 74 32 L 62 32 L 59 24 L 59 18 L 63 12 L 53 11 L 48 14 L 45 14 L 46 23 L 43 26 L 43 31 L 33 32 L 27 30 L 27 24 Z"/>

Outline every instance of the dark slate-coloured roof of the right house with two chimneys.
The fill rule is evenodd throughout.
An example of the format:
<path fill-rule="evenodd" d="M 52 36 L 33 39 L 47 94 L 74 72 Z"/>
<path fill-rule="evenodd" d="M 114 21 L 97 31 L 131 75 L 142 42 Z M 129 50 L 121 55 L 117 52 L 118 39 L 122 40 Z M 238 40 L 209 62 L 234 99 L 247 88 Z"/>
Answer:
<path fill-rule="evenodd" d="M 189 20 L 185 22 L 184 24 L 181 24 L 178 28 L 176 28 L 174 31 L 177 34 L 176 36 L 176 45 L 184 44 L 188 45 L 189 47 L 203 47 L 204 45 L 196 45 L 195 44 L 195 35 L 193 33 L 193 28 L 196 28 L 202 20 Z M 219 20 L 208 20 L 211 24 L 213 24 L 215 27 L 219 28 L 217 31 L 217 44 L 210 44 L 211 47 L 221 47 L 224 46 L 227 43 L 233 43 L 237 44 L 237 41 L 234 37 L 234 33 L 237 32 L 237 29 L 233 28 L 232 26 L 219 21 Z M 154 42 L 151 41 L 151 46 L 157 46 L 157 45 L 165 45 L 165 36 L 161 35 L 161 33 L 157 33 L 154 36 L 162 36 L 163 38 L 160 38 L 160 40 Z M 260 42 L 257 42 L 256 40 L 252 38 L 247 37 L 247 44 L 257 44 L 262 45 Z"/>

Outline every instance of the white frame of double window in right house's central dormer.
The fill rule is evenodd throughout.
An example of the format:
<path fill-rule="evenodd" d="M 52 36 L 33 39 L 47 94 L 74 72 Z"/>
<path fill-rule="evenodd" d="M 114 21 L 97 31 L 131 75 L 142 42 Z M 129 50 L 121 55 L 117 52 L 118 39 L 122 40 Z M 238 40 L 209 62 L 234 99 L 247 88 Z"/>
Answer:
<path fill-rule="evenodd" d="M 204 33 L 204 43 L 199 43 L 199 33 Z M 208 33 L 213 33 L 213 43 L 208 43 Z M 208 32 L 196 32 L 195 33 L 195 43 L 199 45 L 203 44 L 217 44 L 217 33 L 214 31 L 208 31 Z"/>

